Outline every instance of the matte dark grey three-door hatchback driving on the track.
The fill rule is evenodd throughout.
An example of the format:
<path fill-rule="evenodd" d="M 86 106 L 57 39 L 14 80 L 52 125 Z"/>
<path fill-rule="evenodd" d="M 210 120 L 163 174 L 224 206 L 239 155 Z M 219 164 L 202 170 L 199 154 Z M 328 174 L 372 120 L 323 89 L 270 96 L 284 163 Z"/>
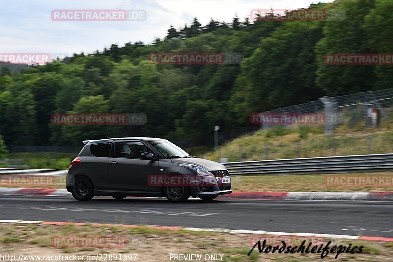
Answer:
<path fill-rule="evenodd" d="M 192 196 L 210 201 L 232 193 L 224 165 L 191 156 L 165 139 L 110 138 L 84 144 L 67 175 L 67 190 L 77 200 L 148 196 L 181 202 Z"/>

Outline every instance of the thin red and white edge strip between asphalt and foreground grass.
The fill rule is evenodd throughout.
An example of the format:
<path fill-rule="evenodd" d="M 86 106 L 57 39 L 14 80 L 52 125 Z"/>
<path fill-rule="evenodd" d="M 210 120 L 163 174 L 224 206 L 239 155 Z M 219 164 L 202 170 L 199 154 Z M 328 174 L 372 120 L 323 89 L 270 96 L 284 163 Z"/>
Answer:
<path fill-rule="evenodd" d="M 0 220 L 0 223 L 17 223 L 17 224 L 41 224 L 41 225 L 91 225 L 91 226 L 118 226 L 125 228 L 147 227 L 165 230 L 186 230 L 186 231 L 206 231 L 206 232 L 222 232 L 222 233 L 243 233 L 258 235 L 275 235 L 275 236 L 296 236 L 296 237 L 315 237 L 315 238 L 337 238 L 352 240 L 369 240 L 393 242 L 393 238 L 376 237 L 376 236 L 356 236 L 356 235 L 338 235 L 338 234 L 312 234 L 312 233 L 290 233 L 262 230 L 242 230 L 242 229 L 209 229 L 209 228 L 191 228 L 191 227 L 173 227 L 173 226 L 154 226 L 154 225 L 123 225 L 123 224 L 103 224 L 103 223 L 76 223 L 76 222 L 52 222 L 52 221 L 30 221 L 30 220 Z"/>

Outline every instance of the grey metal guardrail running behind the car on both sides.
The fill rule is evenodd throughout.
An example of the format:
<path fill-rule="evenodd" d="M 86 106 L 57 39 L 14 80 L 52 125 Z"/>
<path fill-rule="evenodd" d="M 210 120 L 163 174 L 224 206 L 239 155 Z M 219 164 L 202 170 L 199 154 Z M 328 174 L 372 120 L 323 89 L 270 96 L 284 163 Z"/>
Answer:
<path fill-rule="evenodd" d="M 393 169 L 393 154 L 346 155 L 223 163 L 231 175 L 289 175 Z M 0 168 L 0 175 L 67 175 L 67 170 Z"/>

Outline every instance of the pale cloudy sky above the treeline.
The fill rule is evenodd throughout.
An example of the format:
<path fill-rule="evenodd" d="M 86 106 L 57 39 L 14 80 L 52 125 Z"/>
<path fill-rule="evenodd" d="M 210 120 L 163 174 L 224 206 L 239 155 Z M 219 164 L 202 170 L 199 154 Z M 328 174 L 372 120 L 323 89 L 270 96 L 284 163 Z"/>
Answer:
<path fill-rule="evenodd" d="M 252 9 L 306 8 L 314 2 L 333 0 L 1 0 L 0 53 L 66 54 L 100 52 L 112 44 L 163 39 L 170 26 L 202 25 L 211 18 L 241 21 Z M 53 10 L 143 10 L 140 21 L 54 21 Z"/>

